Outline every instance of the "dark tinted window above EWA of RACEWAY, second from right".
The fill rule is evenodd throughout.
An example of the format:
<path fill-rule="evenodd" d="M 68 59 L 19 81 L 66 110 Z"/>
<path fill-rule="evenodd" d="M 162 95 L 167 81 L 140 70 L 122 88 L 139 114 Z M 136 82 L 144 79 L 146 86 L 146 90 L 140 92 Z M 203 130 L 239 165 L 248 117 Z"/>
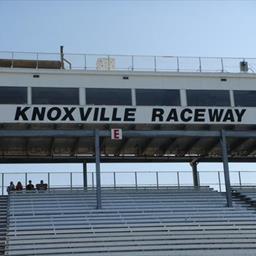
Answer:
<path fill-rule="evenodd" d="M 188 106 L 230 106 L 229 91 L 187 90 Z"/>

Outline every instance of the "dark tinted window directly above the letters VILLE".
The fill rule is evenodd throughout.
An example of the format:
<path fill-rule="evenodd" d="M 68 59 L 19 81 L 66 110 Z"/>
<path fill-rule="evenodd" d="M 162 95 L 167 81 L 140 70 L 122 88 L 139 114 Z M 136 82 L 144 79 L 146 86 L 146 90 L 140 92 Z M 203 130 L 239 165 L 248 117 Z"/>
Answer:
<path fill-rule="evenodd" d="M 87 88 L 86 104 L 89 105 L 132 105 L 130 89 Z"/>

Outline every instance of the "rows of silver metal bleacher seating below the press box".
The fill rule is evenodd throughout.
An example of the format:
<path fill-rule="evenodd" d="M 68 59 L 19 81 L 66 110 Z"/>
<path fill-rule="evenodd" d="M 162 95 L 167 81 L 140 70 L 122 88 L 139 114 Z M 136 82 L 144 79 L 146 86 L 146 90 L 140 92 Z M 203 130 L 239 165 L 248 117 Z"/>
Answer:
<path fill-rule="evenodd" d="M 208 187 L 13 193 L 5 255 L 256 255 L 256 211 Z"/>

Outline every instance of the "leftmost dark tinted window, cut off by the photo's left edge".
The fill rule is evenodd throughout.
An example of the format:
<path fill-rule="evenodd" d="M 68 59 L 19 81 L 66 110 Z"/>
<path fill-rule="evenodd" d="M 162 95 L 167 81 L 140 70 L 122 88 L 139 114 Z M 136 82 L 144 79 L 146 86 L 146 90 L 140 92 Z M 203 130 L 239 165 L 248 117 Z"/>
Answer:
<path fill-rule="evenodd" d="M 26 87 L 0 87 L 0 104 L 26 104 Z"/>

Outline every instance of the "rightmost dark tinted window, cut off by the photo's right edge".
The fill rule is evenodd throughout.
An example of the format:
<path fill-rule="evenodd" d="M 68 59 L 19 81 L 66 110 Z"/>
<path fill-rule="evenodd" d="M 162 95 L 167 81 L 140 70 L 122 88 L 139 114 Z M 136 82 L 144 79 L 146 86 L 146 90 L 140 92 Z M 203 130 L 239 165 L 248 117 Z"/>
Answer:
<path fill-rule="evenodd" d="M 235 106 L 256 107 L 256 91 L 234 91 Z"/>

